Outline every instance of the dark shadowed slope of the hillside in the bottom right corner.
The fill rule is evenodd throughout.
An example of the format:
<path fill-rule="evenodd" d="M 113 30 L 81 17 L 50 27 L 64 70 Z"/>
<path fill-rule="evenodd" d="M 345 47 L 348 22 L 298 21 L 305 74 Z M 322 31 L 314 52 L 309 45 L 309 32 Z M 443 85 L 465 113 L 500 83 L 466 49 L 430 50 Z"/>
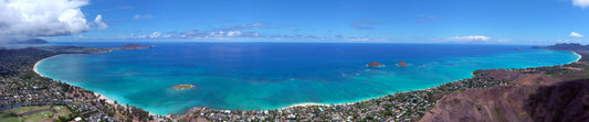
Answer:
<path fill-rule="evenodd" d="M 525 109 L 536 122 L 587 122 L 589 79 L 540 87 L 529 96 Z"/>

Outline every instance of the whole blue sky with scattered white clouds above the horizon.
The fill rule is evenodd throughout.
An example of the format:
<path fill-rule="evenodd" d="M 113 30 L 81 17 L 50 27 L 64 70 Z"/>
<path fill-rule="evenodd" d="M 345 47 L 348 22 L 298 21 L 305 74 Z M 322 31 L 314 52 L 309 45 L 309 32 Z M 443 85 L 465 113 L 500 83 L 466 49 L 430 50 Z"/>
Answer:
<path fill-rule="evenodd" d="M 4 0 L 0 40 L 582 43 L 589 0 Z"/>

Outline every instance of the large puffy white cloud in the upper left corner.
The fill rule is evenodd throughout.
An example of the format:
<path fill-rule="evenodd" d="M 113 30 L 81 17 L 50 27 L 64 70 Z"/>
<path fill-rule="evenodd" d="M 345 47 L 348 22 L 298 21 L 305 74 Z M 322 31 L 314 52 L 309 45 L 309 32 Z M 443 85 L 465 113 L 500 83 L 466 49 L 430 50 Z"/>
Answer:
<path fill-rule="evenodd" d="M 0 40 L 90 31 L 90 22 L 80 9 L 86 4 L 87 0 L 0 0 Z M 97 16 L 97 20 L 101 19 Z M 98 27 L 104 25 L 98 24 Z"/>

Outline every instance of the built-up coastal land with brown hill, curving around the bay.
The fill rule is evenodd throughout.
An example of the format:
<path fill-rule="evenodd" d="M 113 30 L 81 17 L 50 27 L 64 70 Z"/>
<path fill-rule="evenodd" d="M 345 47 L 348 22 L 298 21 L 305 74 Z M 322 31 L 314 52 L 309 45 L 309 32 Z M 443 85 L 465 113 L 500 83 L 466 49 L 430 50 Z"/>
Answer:
<path fill-rule="evenodd" d="M 132 45 L 128 48 L 148 47 Z M 126 49 L 124 47 L 0 49 L 2 56 L 11 57 L 0 59 L 0 108 L 1 115 L 6 118 L 22 118 L 22 113 L 7 110 L 24 106 L 65 107 L 69 113 L 66 111 L 64 115 L 52 117 L 52 120 L 61 121 L 583 121 L 579 120 L 583 118 L 576 117 L 589 114 L 577 109 L 589 107 L 581 102 L 589 97 L 586 95 L 589 86 L 585 81 L 589 78 L 589 63 L 585 62 L 589 46 L 558 44 L 540 48 L 576 52 L 583 58 L 560 66 L 476 70 L 469 79 L 354 103 L 308 104 L 275 110 L 196 107 L 185 114 L 167 117 L 149 114 L 116 101 L 107 102 L 92 91 L 41 77 L 32 70 L 36 62 L 54 55 L 103 53 Z M 560 97 L 570 99 L 558 99 Z"/>

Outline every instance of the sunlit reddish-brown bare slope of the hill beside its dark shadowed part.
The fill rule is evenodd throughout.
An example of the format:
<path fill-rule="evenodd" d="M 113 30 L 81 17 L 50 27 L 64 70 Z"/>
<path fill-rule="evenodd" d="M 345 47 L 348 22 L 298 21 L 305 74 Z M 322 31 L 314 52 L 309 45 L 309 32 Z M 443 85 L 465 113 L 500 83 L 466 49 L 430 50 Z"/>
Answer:
<path fill-rule="evenodd" d="M 524 104 L 529 86 L 467 89 L 444 96 L 421 122 L 530 122 Z"/>

